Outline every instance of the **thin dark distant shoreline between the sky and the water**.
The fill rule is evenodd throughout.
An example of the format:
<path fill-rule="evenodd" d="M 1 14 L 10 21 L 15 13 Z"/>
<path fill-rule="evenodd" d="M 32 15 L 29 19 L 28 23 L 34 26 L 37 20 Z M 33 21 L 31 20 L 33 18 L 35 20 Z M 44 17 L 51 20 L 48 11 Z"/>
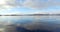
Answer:
<path fill-rule="evenodd" d="M 0 16 L 60 16 L 60 14 L 24 14 L 24 15 L 0 15 Z"/>

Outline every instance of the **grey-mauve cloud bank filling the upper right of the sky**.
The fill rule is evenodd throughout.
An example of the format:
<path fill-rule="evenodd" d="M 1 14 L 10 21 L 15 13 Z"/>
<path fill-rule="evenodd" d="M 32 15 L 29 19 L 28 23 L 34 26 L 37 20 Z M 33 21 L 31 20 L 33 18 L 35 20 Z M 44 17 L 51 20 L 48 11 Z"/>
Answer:
<path fill-rule="evenodd" d="M 60 6 L 60 1 L 59 0 L 27 0 L 24 4 L 25 7 L 31 7 L 31 8 L 38 8 L 38 9 L 43 9 L 43 8 L 48 8 L 50 6 Z"/>

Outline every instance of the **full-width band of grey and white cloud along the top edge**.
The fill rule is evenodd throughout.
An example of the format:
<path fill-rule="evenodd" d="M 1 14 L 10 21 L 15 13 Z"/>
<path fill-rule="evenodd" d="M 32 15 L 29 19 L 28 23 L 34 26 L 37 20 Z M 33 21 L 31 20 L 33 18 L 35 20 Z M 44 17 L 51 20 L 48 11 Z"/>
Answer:
<path fill-rule="evenodd" d="M 27 7 L 44 9 L 51 6 L 60 6 L 60 0 L 0 0 L 0 9 Z"/>

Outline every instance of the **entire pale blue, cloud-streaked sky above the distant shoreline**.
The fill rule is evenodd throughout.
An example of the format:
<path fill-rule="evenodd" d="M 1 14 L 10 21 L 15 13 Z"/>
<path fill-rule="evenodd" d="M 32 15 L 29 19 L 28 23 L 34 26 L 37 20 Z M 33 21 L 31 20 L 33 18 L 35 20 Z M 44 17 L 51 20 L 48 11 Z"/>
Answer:
<path fill-rule="evenodd" d="M 0 14 L 60 13 L 60 0 L 0 0 Z"/>

